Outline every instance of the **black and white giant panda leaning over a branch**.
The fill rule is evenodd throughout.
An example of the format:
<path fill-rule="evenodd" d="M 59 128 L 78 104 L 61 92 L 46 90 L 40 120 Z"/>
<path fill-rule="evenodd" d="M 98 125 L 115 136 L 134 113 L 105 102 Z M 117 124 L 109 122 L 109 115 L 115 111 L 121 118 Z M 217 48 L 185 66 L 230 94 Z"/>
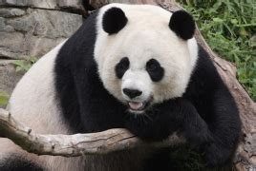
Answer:
<path fill-rule="evenodd" d="M 145 141 L 174 132 L 208 166 L 230 161 L 237 105 L 183 10 L 110 4 L 43 56 L 16 85 L 8 109 L 42 134 L 127 128 Z M 0 170 L 170 170 L 168 149 L 76 158 L 36 156 L 0 140 Z"/>

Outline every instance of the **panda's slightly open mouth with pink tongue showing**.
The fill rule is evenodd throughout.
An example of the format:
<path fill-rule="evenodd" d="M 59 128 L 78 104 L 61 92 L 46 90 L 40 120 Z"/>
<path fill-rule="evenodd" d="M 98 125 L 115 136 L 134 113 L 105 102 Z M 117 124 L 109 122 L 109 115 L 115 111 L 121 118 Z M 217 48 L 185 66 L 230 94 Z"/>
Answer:
<path fill-rule="evenodd" d="M 133 113 L 143 113 L 144 110 L 150 105 L 152 98 L 144 102 L 128 102 L 129 110 Z"/>

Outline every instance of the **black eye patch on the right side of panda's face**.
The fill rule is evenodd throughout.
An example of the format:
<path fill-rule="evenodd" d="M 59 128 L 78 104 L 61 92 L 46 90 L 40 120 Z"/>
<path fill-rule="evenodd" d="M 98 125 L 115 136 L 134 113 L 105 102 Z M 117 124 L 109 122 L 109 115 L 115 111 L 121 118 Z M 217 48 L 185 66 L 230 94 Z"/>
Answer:
<path fill-rule="evenodd" d="M 146 70 L 153 82 L 159 82 L 164 74 L 164 69 L 155 59 L 150 59 L 146 64 Z"/>

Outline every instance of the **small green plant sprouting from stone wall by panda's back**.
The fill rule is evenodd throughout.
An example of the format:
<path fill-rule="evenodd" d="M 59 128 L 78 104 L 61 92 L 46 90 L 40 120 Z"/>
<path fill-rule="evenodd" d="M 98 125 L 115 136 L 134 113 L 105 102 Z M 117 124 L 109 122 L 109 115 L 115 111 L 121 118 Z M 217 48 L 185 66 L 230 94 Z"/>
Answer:
<path fill-rule="evenodd" d="M 17 72 L 18 71 L 27 72 L 36 61 L 37 61 L 36 57 L 30 57 L 26 60 L 16 60 L 12 64 L 15 66 Z"/>

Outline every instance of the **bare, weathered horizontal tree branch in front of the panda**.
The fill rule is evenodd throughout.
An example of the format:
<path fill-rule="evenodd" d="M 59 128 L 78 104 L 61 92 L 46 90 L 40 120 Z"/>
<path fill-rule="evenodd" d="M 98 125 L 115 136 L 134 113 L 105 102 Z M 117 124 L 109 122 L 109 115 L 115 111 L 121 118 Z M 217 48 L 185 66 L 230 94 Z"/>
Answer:
<path fill-rule="evenodd" d="M 42 135 L 12 118 L 11 113 L 0 108 L 0 132 L 24 150 L 37 155 L 75 157 L 106 154 L 139 146 L 160 148 L 185 142 L 176 134 L 162 142 L 144 142 L 126 129 L 109 129 L 103 132 L 75 135 Z"/>

